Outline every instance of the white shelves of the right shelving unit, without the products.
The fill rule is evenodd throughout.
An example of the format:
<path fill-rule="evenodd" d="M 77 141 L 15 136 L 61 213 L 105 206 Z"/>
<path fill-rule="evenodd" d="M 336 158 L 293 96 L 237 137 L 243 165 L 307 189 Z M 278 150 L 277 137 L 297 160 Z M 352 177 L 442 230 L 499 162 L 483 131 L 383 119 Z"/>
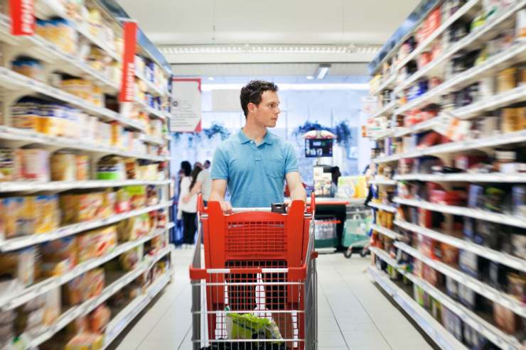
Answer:
<path fill-rule="evenodd" d="M 376 59 L 374 61 L 375 63 L 372 70 L 375 74 L 380 74 L 377 72 L 380 70 L 380 65 L 382 63 L 390 62 L 389 69 L 387 69 L 387 67 L 381 67 L 384 72 L 383 76 L 380 79 L 378 79 L 379 77 L 375 77 L 375 81 L 380 81 L 380 84 L 372 93 L 377 97 L 381 97 L 385 96 L 382 94 L 385 89 L 392 90 L 392 102 L 387 105 L 389 108 L 384 107 L 372 116 L 372 118 L 378 118 L 380 116 L 391 117 L 390 126 L 386 130 L 378 131 L 374 137 L 375 141 L 380 144 L 380 155 L 373 161 L 382 168 L 388 166 L 390 169 L 397 169 L 397 162 L 399 160 L 421 158 L 424 156 L 435 156 L 439 158 L 444 165 L 453 166 L 452 160 L 454 155 L 473 154 L 476 151 L 483 151 L 488 155 L 493 155 L 495 148 L 520 148 L 526 144 L 526 130 L 520 130 L 508 133 L 502 133 L 501 131 L 500 133 L 494 133 L 491 136 L 464 138 L 461 141 L 443 143 L 426 148 L 407 149 L 407 145 L 411 144 L 411 142 L 407 141 L 412 141 L 409 140 L 408 136 L 414 136 L 417 133 L 431 130 L 441 132 L 446 126 L 451 125 L 451 119 L 471 121 L 482 116 L 495 115 L 493 114 L 493 111 L 498 111 L 499 109 L 509 106 L 521 106 L 526 102 L 526 86 L 524 84 L 516 84 L 515 88 L 507 89 L 507 91 L 496 92 L 493 96 L 486 96 L 477 99 L 475 102 L 468 104 L 467 106 L 454 107 L 451 105 L 441 105 L 444 95 L 458 92 L 480 80 L 488 77 L 495 77 L 495 75 L 503 70 L 526 62 L 526 41 L 523 38 L 516 38 L 512 45 L 506 50 L 501 50 L 500 52 L 491 55 L 487 60 L 478 62 L 478 64 L 468 70 L 464 70 L 459 74 L 451 75 L 451 60 L 458 55 L 458 53 L 481 49 L 485 43 L 496 38 L 499 33 L 508 33 L 514 30 L 517 23 L 517 13 L 526 9 L 526 0 L 510 1 L 507 6 L 501 6 L 498 11 L 491 16 L 488 16 L 483 25 L 471 30 L 460 40 L 444 46 L 446 40 L 444 40 L 443 36 L 449 35 L 447 33 L 449 33 L 453 23 L 456 23 L 459 19 L 461 19 L 463 23 L 466 23 L 466 21 L 472 21 L 475 16 L 478 16 L 478 14 L 485 9 L 483 7 L 485 6 L 483 1 L 468 0 L 463 6 L 457 9 L 453 15 L 449 16 L 446 21 L 442 21 L 432 33 L 427 33 L 426 38 L 418 43 L 417 47 L 414 48 L 411 53 L 407 55 L 404 53 L 403 55 L 405 55 L 405 57 L 397 56 L 402 43 L 412 35 L 415 35 L 417 28 L 424 21 L 424 18 L 428 16 L 436 6 L 441 6 L 441 3 L 442 1 L 437 1 L 435 5 L 426 9 L 428 12 L 422 12 L 422 20 L 420 22 L 417 21 L 417 23 L 414 24 L 414 28 L 404 34 L 399 40 L 399 43 L 393 43 L 391 41 L 389 45 L 386 45 L 388 48 L 393 49 L 390 52 L 386 51 L 382 53 L 380 57 L 383 58 L 383 60 L 380 61 L 379 59 Z M 415 62 L 418 60 L 419 55 L 434 48 L 435 43 L 442 43 L 443 45 L 439 54 L 435 55 L 430 62 L 426 63 L 426 65 L 419 66 L 416 72 L 412 71 L 408 74 L 405 67 L 409 62 Z M 377 65 L 378 62 L 380 62 L 380 65 Z M 409 89 L 416 89 L 416 85 L 419 82 L 422 80 L 429 80 L 432 77 L 439 77 L 441 81 L 424 94 L 420 94 L 418 97 L 410 99 L 411 93 L 408 93 Z M 406 99 L 403 98 L 404 95 L 407 97 Z M 409 99 L 409 101 L 407 101 L 407 99 Z M 395 105 L 394 109 L 391 109 L 392 104 Z M 402 127 L 404 124 L 400 123 L 399 116 L 408 116 L 414 109 L 422 109 L 431 104 L 436 105 L 439 108 L 439 112 L 436 116 L 422 121 L 419 124 Z M 384 142 L 385 146 L 382 151 L 382 143 Z M 394 148 L 392 147 L 393 145 Z M 406 148 L 401 150 L 402 147 L 400 146 Z M 397 185 L 397 182 L 402 181 L 436 182 L 446 189 L 467 186 L 470 183 L 491 184 L 493 186 L 500 183 L 507 184 L 508 186 L 510 184 L 526 183 L 526 175 L 522 173 L 429 174 L 415 173 L 417 170 L 412 171 L 413 173 L 404 173 L 404 175 L 395 174 L 393 180 L 382 179 L 381 176 L 383 174 L 379 173 L 377 178 L 370 183 L 378 186 L 395 186 Z M 410 183 L 409 185 L 417 184 Z M 382 189 L 387 190 L 387 187 L 380 187 L 380 190 Z M 409 191 L 409 196 L 412 196 L 410 195 L 411 193 L 412 192 Z M 445 215 L 446 219 L 452 219 L 451 215 L 455 215 L 457 217 L 469 217 L 485 222 L 493 222 L 510 227 L 526 229 L 526 218 L 517 214 L 490 212 L 483 209 L 427 202 L 418 197 L 409 196 L 404 198 L 394 197 L 392 201 L 401 209 L 405 210 L 407 207 L 412 207 L 413 210 L 414 208 L 426 209 L 431 212 L 442 213 Z M 372 204 L 372 206 L 374 207 L 375 204 Z M 378 208 L 380 205 L 377 204 L 376 207 Z M 394 208 L 394 206 L 392 208 Z M 382 206 L 379 209 L 385 210 L 387 208 Z M 394 209 L 391 210 L 391 212 L 395 212 L 396 214 L 397 210 Z M 493 288 L 488 283 L 485 283 L 485 280 L 479 280 L 468 273 L 464 273 L 458 268 L 458 266 L 450 266 L 442 261 L 429 258 L 428 256 L 425 256 L 419 248 L 414 248 L 402 243 L 402 241 L 407 241 L 402 238 L 408 231 L 413 232 L 421 238 L 432 239 L 436 242 L 456 247 L 462 251 L 474 253 L 476 256 L 498 263 L 500 266 L 505 266 L 506 268 L 517 271 L 517 273 L 520 274 L 526 272 L 525 259 L 518 256 L 512 256 L 510 253 L 505 253 L 504 251 L 481 246 L 472 241 L 468 241 L 468 239 L 464 239 L 461 235 L 457 236 L 448 234 L 441 231 L 441 229 L 436 228 L 425 228 L 419 226 L 419 224 L 407 222 L 402 218 L 399 218 L 398 215 L 395 216 L 393 224 L 397 227 L 396 231 L 386 229 L 377 224 L 372 226 L 372 229 L 380 234 L 378 239 L 384 239 L 382 236 L 393 239 L 394 247 L 397 249 L 398 253 L 403 251 L 411 256 L 414 261 L 421 261 L 426 266 L 441 273 L 441 275 L 451 278 L 459 285 L 463 285 L 473 292 L 476 292 L 490 302 L 497 303 L 498 305 L 511 310 L 518 317 L 526 317 L 526 305 L 518 300 L 517 297 L 508 294 L 508 291 Z M 414 237 L 416 237 L 416 235 Z M 504 332 L 503 329 L 500 329 L 490 315 L 481 316 L 481 313 L 473 312 L 468 307 L 462 305 L 458 300 L 454 300 L 447 295 L 442 286 L 435 287 L 426 282 L 423 278 L 420 278 L 418 275 L 409 273 L 408 270 L 410 269 L 407 269 L 405 263 L 398 265 L 397 259 L 392 258 L 390 253 L 382 251 L 377 247 L 371 248 L 371 251 L 374 253 L 375 258 L 396 268 L 401 275 L 404 275 L 404 277 L 410 281 L 410 283 L 422 288 L 424 292 L 439 302 L 443 307 L 448 308 L 451 312 L 460 317 L 464 324 L 474 329 L 474 331 L 478 332 L 481 337 L 485 337 L 495 344 L 495 346 L 498 346 L 498 348 L 505 350 L 518 350 L 522 349 L 524 346 L 524 344 L 520 344 L 520 339 Z M 399 257 L 400 254 L 397 255 L 397 258 Z M 452 334 L 447 332 L 446 327 L 440 322 L 436 322 L 436 320 L 433 319 L 423 307 L 418 305 L 417 302 L 414 302 L 412 299 L 412 292 L 408 294 L 403 288 L 399 288 L 397 283 L 390 280 L 386 273 L 383 273 L 376 268 L 370 268 L 369 273 L 372 275 L 372 279 L 380 285 L 380 288 L 385 290 L 385 292 L 392 297 L 394 302 L 414 318 L 422 329 L 424 329 L 424 332 L 429 334 L 441 349 L 468 349 L 466 344 L 462 344 L 461 341 L 455 339 Z M 428 318 L 419 318 L 421 315 L 425 315 Z"/>

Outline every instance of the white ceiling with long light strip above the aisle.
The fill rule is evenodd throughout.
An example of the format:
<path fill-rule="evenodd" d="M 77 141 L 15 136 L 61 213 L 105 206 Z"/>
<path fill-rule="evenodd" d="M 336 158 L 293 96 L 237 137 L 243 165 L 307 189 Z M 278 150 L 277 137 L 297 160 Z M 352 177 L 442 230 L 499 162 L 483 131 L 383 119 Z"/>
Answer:
<path fill-rule="evenodd" d="M 419 0 L 117 0 L 156 45 L 383 44 Z M 369 62 L 375 53 L 176 54 L 171 63 Z"/>

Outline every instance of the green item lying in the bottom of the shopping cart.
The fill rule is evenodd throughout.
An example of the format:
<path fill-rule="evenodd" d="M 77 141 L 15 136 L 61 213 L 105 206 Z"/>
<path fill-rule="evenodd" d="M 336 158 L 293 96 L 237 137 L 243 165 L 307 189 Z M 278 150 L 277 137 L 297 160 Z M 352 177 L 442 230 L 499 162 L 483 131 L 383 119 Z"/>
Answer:
<path fill-rule="evenodd" d="M 226 309 L 228 311 L 228 309 Z M 227 318 L 227 331 L 229 339 L 254 339 L 253 335 L 264 334 L 264 339 L 274 339 L 274 343 L 281 344 L 281 334 L 279 327 L 274 320 L 264 317 L 257 317 L 252 314 L 229 313 Z"/>

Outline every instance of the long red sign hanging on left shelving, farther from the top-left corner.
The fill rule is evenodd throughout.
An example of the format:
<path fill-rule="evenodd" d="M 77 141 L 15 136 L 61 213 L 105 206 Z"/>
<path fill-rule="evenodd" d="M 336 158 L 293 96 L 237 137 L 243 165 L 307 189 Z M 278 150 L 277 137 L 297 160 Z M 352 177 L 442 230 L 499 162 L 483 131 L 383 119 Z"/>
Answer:
<path fill-rule="evenodd" d="M 132 102 L 135 97 L 135 49 L 137 23 L 124 23 L 124 52 L 122 53 L 122 82 L 119 102 Z"/>

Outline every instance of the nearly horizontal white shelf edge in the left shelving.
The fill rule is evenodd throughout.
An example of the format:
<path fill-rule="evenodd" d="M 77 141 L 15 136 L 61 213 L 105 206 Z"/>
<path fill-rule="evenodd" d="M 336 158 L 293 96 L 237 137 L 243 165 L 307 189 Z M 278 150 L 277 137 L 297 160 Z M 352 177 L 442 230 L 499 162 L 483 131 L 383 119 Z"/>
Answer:
<path fill-rule="evenodd" d="M 89 180 L 89 181 L 51 181 L 51 182 L 0 182 L 0 193 L 6 192 L 62 192 L 73 189 L 109 188 L 134 185 L 169 185 L 171 180 Z"/>

